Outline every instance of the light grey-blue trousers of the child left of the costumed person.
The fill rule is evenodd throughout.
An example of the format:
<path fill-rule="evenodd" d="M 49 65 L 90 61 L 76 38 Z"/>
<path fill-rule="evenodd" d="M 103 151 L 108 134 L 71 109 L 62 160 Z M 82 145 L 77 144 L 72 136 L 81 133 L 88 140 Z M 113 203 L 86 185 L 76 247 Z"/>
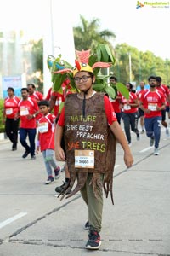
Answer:
<path fill-rule="evenodd" d="M 43 150 L 42 156 L 43 156 L 43 160 L 44 160 L 44 164 L 45 164 L 48 176 L 52 176 L 53 171 L 51 167 L 53 167 L 54 170 L 57 168 L 56 162 L 54 161 L 54 150 L 53 149 Z"/>

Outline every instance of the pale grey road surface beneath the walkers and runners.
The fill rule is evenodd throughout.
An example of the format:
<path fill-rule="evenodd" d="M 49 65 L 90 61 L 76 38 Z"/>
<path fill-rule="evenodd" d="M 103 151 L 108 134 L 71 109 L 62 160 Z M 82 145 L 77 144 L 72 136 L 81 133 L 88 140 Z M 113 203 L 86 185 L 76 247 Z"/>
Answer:
<path fill-rule="evenodd" d="M 45 185 L 41 154 L 24 160 L 20 143 L 13 152 L 8 140 L 0 141 L 0 256 L 170 255 L 170 138 L 162 129 L 155 156 L 145 134 L 139 142 L 132 136 L 132 168 L 117 144 L 115 205 L 105 199 L 102 244 L 95 252 L 84 249 L 88 209 L 80 193 L 63 201 L 54 196 L 65 173 Z"/>

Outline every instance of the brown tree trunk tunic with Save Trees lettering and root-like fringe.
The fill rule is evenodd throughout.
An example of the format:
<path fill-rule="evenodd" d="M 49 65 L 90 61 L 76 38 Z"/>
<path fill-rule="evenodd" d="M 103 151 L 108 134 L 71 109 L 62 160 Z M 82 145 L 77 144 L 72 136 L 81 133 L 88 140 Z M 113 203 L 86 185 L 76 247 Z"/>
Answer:
<path fill-rule="evenodd" d="M 103 187 L 106 197 L 111 192 L 111 201 L 114 204 L 112 189 L 116 160 L 116 137 L 108 125 L 104 94 L 95 93 L 94 96 L 85 101 L 85 117 L 83 117 L 83 100 L 79 99 L 77 94 L 68 95 L 65 99 L 65 148 L 71 177 L 67 188 L 62 191 L 61 200 L 65 197 L 67 191 L 72 189 L 76 179 L 77 186 L 66 198 L 75 195 L 77 191 L 82 189 L 86 183 L 88 172 L 93 172 L 90 184 L 93 186 L 94 195 L 98 196 L 97 186 Z M 84 150 L 94 152 L 94 166 L 75 166 L 75 150 L 78 150 L 78 152 L 84 152 Z M 105 174 L 103 183 L 99 178 L 101 173 Z"/>

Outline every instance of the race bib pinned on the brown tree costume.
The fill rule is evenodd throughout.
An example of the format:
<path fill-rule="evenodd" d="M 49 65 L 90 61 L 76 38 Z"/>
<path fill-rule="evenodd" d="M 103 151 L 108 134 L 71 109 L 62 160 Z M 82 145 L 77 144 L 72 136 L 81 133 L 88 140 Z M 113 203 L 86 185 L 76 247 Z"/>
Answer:
<path fill-rule="evenodd" d="M 75 150 L 75 168 L 94 169 L 94 150 Z"/>

